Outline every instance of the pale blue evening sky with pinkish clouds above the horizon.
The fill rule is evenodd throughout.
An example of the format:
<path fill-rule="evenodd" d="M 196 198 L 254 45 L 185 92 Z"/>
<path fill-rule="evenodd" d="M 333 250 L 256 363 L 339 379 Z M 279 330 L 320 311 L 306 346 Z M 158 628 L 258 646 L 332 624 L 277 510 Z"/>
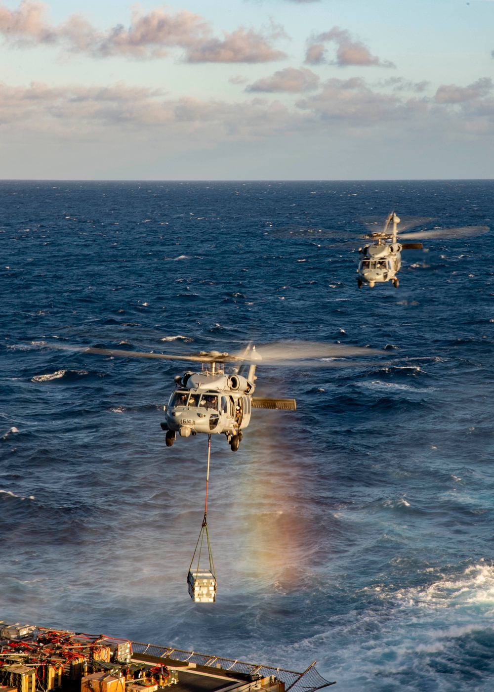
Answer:
<path fill-rule="evenodd" d="M 0 0 L 0 178 L 494 178 L 493 0 Z"/>

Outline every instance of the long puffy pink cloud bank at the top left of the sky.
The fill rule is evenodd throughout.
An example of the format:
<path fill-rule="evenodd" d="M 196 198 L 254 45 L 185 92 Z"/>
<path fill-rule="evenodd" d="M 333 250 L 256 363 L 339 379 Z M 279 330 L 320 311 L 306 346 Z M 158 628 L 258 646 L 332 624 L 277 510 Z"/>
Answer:
<path fill-rule="evenodd" d="M 152 59 L 167 55 L 171 48 L 185 51 L 187 62 L 255 63 L 286 57 L 271 45 L 282 35 L 280 29 L 266 36 L 240 27 L 218 39 L 200 15 L 188 10 L 173 14 L 165 7 L 147 14 L 134 8 L 128 28 L 118 24 L 99 31 L 83 15 L 71 15 L 64 24 L 52 26 L 44 3 L 23 0 L 17 10 L 0 5 L 0 34 L 15 46 L 57 44 L 68 52 L 93 57 Z"/>

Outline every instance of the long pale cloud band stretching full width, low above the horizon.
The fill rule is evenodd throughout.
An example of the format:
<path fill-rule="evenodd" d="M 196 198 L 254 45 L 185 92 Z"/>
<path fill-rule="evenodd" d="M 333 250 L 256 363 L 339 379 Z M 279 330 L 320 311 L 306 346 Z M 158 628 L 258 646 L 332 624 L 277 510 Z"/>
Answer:
<path fill-rule="evenodd" d="M 475 84 L 479 82 L 484 84 L 482 80 Z M 482 95 L 487 86 L 484 92 L 477 88 L 475 99 L 437 102 L 374 91 L 361 78 L 330 79 L 318 93 L 287 106 L 258 97 L 233 101 L 169 98 L 159 90 L 122 82 L 56 87 L 0 84 L 0 134 L 3 143 L 8 143 L 27 134 L 39 140 L 51 136 L 104 142 L 120 133 L 136 141 L 160 137 L 174 147 L 189 146 L 192 141 L 212 145 L 293 134 L 354 137 L 371 130 L 399 139 L 407 132 L 426 138 L 482 137 L 494 132 L 494 100 Z"/>

